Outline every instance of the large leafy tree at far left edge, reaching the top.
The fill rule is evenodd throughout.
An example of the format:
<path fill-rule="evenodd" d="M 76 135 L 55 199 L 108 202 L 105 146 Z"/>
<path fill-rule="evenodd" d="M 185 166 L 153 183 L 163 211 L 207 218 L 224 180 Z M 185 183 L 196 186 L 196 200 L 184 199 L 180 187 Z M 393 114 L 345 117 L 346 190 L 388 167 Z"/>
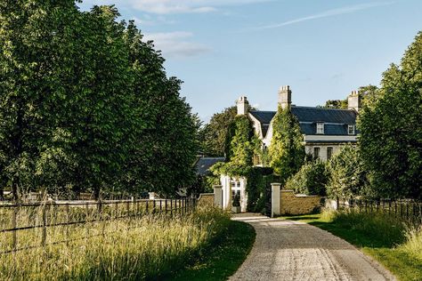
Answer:
<path fill-rule="evenodd" d="M 49 100 L 61 92 L 61 52 L 74 1 L 0 3 L 0 150 L 4 182 L 15 200 L 34 188 L 39 150 L 53 129 Z"/>

